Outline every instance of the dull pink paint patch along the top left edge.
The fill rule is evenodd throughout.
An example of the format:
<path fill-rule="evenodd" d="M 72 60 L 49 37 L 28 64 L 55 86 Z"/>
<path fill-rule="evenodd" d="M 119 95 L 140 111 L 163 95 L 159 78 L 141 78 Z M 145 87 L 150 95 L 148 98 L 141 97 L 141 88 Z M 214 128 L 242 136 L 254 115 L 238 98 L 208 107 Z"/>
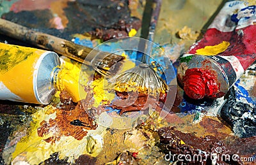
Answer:
<path fill-rule="evenodd" d="M 59 0 L 20 0 L 12 4 L 10 11 L 18 13 L 20 11 L 44 10 L 51 7 L 51 3 Z"/>

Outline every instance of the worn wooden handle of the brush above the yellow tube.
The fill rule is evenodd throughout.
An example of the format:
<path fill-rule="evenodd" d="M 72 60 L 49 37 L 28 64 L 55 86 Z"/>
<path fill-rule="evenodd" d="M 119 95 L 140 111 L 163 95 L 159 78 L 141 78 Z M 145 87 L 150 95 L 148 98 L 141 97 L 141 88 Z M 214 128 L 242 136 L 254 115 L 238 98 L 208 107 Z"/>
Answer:
<path fill-rule="evenodd" d="M 89 63 L 93 60 L 86 58 L 92 51 L 92 48 L 84 47 L 83 45 L 78 45 L 72 41 L 67 41 L 43 32 L 33 31 L 28 27 L 1 18 L 0 33 L 9 36 L 10 38 L 19 39 L 31 45 L 35 45 L 36 47 L 51 50 L 79 62 L 87 61 L 86 63 Z M 97 53 L 96 50 L 93 50 L 93 54 L 97 55 Z M 106 53 L 106 55 L 108 54 L 107 52 L 100 52 L 100 54 L 102 53 Z M 90 55 L 90 57 L 94 57 L 94 55 Z M 86 61 L 84 61 L 84 59 L 86 59 Z"/>

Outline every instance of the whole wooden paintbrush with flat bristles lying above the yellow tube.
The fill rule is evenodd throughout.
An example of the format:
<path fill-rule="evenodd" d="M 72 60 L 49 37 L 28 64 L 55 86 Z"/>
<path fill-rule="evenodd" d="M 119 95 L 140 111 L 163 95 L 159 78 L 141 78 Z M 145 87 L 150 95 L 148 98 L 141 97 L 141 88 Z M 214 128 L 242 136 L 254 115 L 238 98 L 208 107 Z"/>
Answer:
<path fill-rule="evenodd" d="M 115 75 L 122 66 L 125 57 L 78 45 L 72 41 L 58 38 L 43 32 L 0 18 L 0 34 L 19 39 L 36 47 L 51 50 L 60 55 L 92 66 L 102 75 Z M 90 54 L 90 55 L 88 55 Z"/>

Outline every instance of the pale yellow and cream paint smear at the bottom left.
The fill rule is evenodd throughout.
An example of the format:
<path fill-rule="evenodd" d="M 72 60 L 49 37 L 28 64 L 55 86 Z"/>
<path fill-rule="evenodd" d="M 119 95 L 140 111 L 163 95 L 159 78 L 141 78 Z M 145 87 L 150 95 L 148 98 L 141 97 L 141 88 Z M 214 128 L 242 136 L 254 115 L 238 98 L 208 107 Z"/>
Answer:
<path fill-rule="evenodd" d="M 68 157 L 67 161 L 72 162 L 82 154 L 96 157 L 101 152 L 102 146 L 100 143 L 102 141 L 95 137 L 104 136 L 106 132 L 102 127 L 98 127 L 96 130 L 86 130 L 90 135 L 82 140 L 76 140 L 73 136 L 61 136 L 60 140 L 55 143 L 47 143 L 45 139 L 50 138 L 52 133 L 45 134 L 43 137 L 38 136 L 37 129 L 40 127 L 40 123 L 44 120 L 48 122 L 50 119 L 56 118 L 55 111 L 56 108 L 49 105 L 45 108 L 38 108 L 36 113 L 33 113 L 33 122 L 31 122 L 29 133 L 17 143 L 12 154 L 12 161 L 15 158 L 19 159 L 19 155 L 24 155 L 29 164 L 40 164 L 40 162 L 49 159 L 51 154 L 58 152 L 60 159 Z M 52 127 L 51 131 L 58 134 L 59 128 Z"/>

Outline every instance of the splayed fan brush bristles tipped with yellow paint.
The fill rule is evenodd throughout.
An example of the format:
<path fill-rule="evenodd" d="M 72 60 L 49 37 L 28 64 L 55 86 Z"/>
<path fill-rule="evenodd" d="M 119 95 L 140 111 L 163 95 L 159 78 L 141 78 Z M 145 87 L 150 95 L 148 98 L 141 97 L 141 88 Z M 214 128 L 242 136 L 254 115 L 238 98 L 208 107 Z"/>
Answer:
<path fill-rule="evenodd" d="M 129 69 L 109 81 L 115 83 L 115 90 L 118 92 L 138 91 L 156 95 L 168 90 L 168 85 L 146 64 Z"/>

